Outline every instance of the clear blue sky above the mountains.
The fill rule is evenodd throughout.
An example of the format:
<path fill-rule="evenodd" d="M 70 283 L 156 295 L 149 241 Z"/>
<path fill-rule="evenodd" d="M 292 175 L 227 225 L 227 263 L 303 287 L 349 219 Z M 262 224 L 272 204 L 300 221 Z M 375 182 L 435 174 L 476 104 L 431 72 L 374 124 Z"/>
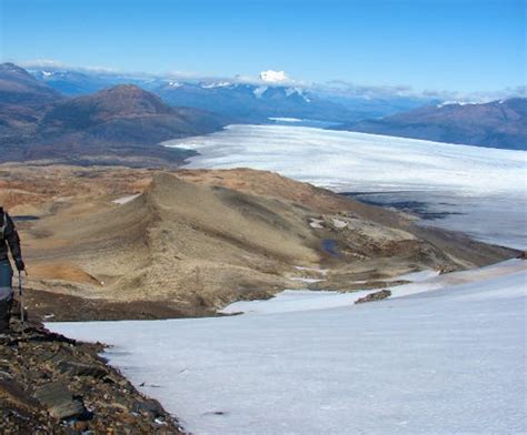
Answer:
<path fill-rule="evenodd" d="M 417 90 L 525 84 L 515 0 L 0 0 L 3 61 Z"/>

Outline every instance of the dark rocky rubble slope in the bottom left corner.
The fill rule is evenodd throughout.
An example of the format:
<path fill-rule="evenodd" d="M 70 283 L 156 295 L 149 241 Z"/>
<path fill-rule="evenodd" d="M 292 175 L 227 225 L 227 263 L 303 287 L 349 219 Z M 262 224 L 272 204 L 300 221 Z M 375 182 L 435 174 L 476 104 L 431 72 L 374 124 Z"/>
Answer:
<path fill-rule="evenodd" d="M 23 330 L 23 331 L 22 331 Z M 1 434 L 182 434 L 92 345 L 12 321 L 0 336 Z"/>

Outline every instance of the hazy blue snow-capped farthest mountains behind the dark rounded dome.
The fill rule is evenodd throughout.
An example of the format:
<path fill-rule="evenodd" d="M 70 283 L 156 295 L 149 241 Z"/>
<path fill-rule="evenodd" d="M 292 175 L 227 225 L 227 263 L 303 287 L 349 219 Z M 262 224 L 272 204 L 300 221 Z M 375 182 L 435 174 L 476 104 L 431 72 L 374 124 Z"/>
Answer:
<path fill-rule="evenodd" d="M 336 97 L 292 82 L 248 83 L 232 80 L 180 80 L 64 69 L 31 70 L 42 83 L 67 95 L 92 93 L 116 84 L 133 83 L 165 102 L 219 113 L 239 123 L 268 123 L 270 118 L 296 118 L 342 123 L 409 110 L 432 99 L 411 97 Z M 265 78 L 265 77 L 264 77 Z"/>

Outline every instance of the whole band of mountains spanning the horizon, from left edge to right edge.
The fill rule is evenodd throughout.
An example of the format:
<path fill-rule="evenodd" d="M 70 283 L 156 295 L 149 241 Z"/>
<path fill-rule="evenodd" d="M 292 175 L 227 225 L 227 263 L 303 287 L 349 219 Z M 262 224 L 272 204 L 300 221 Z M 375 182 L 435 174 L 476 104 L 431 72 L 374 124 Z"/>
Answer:
<path fill-rule="evenodd" d="M 29 73 L 3 63 L 0 161 L 178 164 L 195 152 L 166 149 L 160 142 L 207 134 L 230 123 L 271 123 L 282 118 L 325 121 L 338 130 L 527 149 L 527 99 L 415 108 L 425 102 L 429 103 L 404 97 L 322 95 L 291 83 L 265 81 L 181 82 L 64 70 Z"/>

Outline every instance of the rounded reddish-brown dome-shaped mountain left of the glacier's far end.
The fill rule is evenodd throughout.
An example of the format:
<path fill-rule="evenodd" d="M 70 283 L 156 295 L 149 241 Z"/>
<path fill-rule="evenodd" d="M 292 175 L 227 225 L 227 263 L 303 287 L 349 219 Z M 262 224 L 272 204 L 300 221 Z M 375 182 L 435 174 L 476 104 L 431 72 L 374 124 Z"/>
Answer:
<path fill-rule="evenodd" d="M 152 146 L 221 127 L 211 113 L 170 108 L 136 85 L 118 85 L 54 104 L 40 122 L 39 134 L 44 143 Z"/>

